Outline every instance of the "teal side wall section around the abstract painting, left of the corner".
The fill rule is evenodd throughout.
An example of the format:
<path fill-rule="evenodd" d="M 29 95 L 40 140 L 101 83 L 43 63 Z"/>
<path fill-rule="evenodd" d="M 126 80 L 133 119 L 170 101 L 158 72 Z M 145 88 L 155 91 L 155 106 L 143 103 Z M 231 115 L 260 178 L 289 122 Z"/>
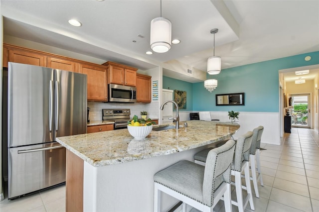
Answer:
<path fill-rule="evenodd" d="M 163 89 L 186 91 L 186 109 L 193 110 L 193 84 L 163 76 Z"/>

